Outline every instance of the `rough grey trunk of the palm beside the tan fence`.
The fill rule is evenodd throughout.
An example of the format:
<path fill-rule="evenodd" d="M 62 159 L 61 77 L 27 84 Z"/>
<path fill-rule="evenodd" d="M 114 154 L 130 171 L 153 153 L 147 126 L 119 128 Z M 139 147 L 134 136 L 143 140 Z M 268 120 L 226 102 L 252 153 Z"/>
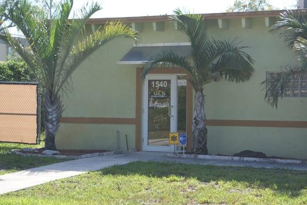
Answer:
<path fill-rule="evenodd" d="M 44 94 L 45 148 L 55 150 L 55 133 L 63 113 L 60 96 L 46 90 Z"/>

